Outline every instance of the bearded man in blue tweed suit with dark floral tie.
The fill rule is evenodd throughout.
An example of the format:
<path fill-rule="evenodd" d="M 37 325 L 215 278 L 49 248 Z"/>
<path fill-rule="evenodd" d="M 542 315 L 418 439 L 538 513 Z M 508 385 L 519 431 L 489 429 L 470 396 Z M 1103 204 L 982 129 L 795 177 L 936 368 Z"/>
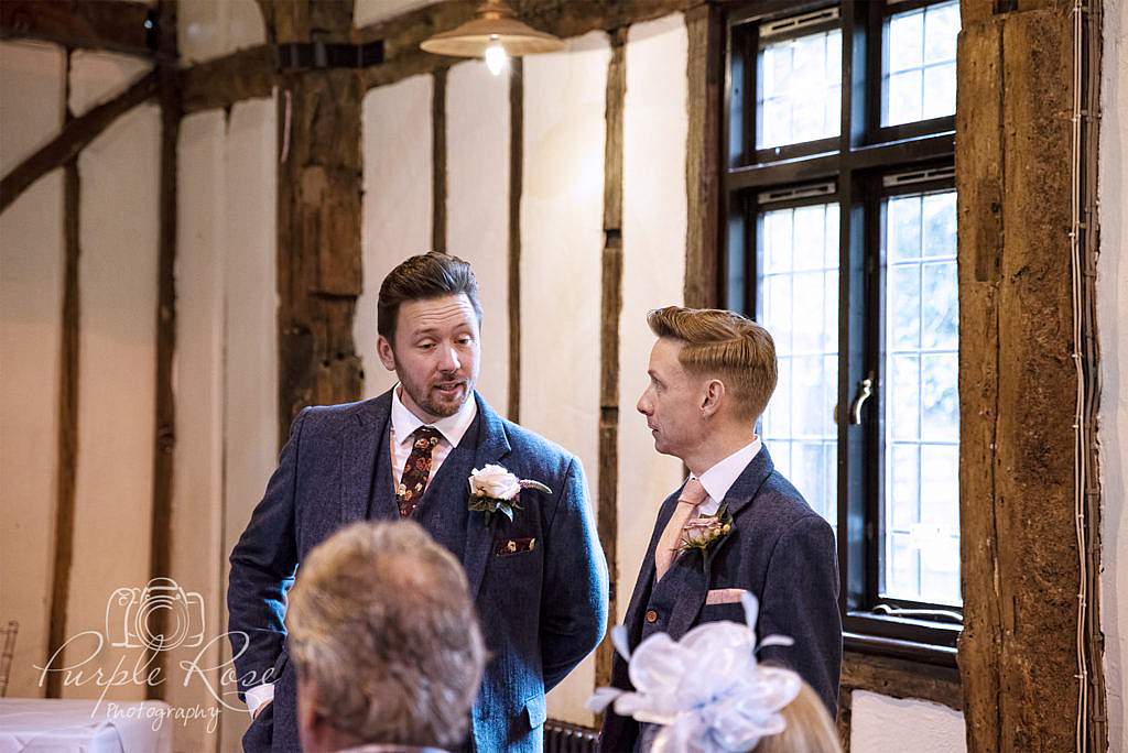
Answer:
<path fill-rule="evenodd" d="M 411 517 L 462 562 L 492 655 L 466 746 L 539 751 L 545 692 L 606 629 L 607 565 L 583 469 L 474 390 L 482 308 L 468 264 L 412 257 L 385 278 L 377 308 L 378 354 L 399 384 L 363 402 L 302 410 L 231 552 L 231 640 L 254 716 L 244 747 L 299 750 L 283 618 L 302 559 L 352 522 Z M 468 482 L 486 466 L 549 491 L 525 488 L 512 520 L 502 511 L 487 520 L 469 510 Z M 499 473 L 492 488 L 504 497 Z"/>

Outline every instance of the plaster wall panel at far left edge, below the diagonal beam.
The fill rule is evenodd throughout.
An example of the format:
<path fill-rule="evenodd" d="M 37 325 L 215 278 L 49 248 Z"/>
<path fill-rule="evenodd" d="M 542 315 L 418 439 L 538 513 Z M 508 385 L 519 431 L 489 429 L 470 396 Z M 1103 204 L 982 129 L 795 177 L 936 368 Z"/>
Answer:
<path fill-rule="evenodd" d="M 34 113 L 33 113 L 34 115 Z M 0 215 L 0 619 L 19 622 L 8 696 L 43 694 L 54 564 L 65 271 L 62 170 Z"/>

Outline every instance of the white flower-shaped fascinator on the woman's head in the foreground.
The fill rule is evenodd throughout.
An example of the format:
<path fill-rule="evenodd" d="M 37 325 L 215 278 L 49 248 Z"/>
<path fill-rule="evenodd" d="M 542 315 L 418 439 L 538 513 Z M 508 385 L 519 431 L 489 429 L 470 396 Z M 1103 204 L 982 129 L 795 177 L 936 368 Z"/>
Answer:
<path fill-rule="evenodd" d="M 749 751 L 760 738 L 784 730 L 779 711 L 799 696 L 802 681 L 791 670 L 764 666 L 756 653 L 766 646 L 791 646 L 785 636 L 767 636 L 757 645 L 759 603 L 741 597 L 747 624 L 706 622 L 681 640 L 664 632 L 643 640 L 634 654 L 623 626 L 611 631 L 615 649 L 629 662 L 635 692 L 600 688 L 588 708 L 614 703 L 619 716 L 661 725 L 654 753 Z"/>

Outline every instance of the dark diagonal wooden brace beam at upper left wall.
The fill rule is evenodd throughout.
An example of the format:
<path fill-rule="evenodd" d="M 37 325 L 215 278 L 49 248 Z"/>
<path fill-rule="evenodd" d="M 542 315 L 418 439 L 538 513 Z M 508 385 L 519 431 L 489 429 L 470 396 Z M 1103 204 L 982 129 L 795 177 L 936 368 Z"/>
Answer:
<path fill-rule="evenodd" d="M 0 8 L 3 3 L 0 3 Z M 157 73 L 152 72 L 126 89 L 116 99 L 98 105 L 81 117 L 69 121 L 59 135 L 45 147 L 17 165 L 0 181 L 0 212 L 16 201 L 24 191 L 41 177 L 67 165 L 106 130 L 136 105 L 157 94 Z"/>

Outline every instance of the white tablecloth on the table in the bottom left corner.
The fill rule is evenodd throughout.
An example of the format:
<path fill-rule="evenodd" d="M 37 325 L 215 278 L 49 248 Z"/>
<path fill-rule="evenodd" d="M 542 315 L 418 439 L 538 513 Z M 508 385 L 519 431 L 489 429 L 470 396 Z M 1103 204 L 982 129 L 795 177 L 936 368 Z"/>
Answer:
<path fill-rule="evenodd" d="M 0 698 L 0 753 L 170 753 L 168 710 L 161 701 Z"/>

